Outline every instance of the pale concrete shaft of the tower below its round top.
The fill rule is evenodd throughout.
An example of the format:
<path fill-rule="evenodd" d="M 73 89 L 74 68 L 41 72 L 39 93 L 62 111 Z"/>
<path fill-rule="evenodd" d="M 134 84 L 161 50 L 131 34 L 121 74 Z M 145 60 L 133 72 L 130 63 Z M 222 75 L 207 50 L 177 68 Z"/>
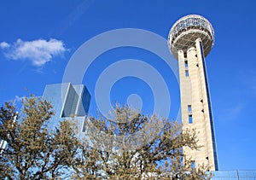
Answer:
<path fill-rule="evenodd" d="M 212 107 L 207 82 L 207 71 L 201 38 L 187 52 L 177 51 L 181 94 L 183 129 L 198 131 L 199 150 L 183 148 L 183 154 L 195 161 L 195 165 L 209 165 L 218 170 Z"/>

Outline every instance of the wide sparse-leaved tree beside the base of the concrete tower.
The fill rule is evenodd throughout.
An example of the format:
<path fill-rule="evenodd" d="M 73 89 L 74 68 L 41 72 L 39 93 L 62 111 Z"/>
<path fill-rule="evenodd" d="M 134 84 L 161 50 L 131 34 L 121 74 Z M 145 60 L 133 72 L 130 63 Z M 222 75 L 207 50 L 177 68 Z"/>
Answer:
<path fill-rule="evenodd" d="M 129 107 L 113 109 L 109 118 L 91 117 L 86 125 L 82 160 L 74 179 L 209 179 L 182 153 L 197 145 L 195 130 Z"/>

